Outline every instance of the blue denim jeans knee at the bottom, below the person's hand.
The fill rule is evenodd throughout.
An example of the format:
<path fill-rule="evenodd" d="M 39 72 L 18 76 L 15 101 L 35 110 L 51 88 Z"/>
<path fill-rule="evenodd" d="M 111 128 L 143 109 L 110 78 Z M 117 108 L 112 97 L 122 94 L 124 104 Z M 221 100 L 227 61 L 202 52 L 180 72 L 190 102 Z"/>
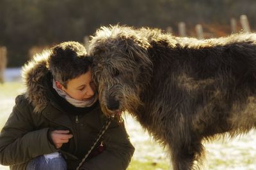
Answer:
<path fill-rule="evenodd" d="M 65 170 L 67 169 L 67 163 L 61 156 L 61 153 L 54 152 L 47 155 L 41 155 L 32 159 L 26 170 Z"/>

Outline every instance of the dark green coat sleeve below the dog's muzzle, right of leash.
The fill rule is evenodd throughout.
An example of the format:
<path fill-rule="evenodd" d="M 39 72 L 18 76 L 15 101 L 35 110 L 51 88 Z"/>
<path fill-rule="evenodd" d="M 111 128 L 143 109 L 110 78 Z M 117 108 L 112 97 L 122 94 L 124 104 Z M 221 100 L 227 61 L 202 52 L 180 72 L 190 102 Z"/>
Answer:
<path fill-rule="evenodd" d="M 85 162 L 81 169 L 86 170 L 124 170 L 127 169 L 134 153 L 124 123 L 111 122 L 104 135 L 106 150 Z"/>

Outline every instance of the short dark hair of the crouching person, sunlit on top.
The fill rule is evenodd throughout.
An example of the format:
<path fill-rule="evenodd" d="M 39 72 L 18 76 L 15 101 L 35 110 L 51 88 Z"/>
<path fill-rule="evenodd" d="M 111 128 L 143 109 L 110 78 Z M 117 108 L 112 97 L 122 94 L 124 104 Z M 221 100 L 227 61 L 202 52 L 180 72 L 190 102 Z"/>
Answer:
<path fill-rule="evenodd" d="M 53 78 L 67 88 L 67 81 L 88 71 L 92 58 L 86 56 L 86 49 L 75 41 L 60 43 L 51 48 L 49 70 Z"/>

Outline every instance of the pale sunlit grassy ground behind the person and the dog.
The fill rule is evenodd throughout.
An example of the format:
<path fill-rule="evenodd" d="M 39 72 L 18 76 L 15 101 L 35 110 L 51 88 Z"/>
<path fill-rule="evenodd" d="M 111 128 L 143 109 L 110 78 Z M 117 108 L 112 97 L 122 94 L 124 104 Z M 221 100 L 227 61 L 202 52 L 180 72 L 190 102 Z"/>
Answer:
<path fill-rule="evenodd" d="M 20 81 L 0 84 L 0 129 L 12 111 L 15 96 L 24 92 Z M 131 116 L 125 116 L 127 132 L 136 148 L 128 170 L 168 170 L 169 158 L 164 148 L 145 132 Z M 256 132 L 239 136 L 236 139 L 220 138 L 205 143 L 206 157 L 203 169 L 209 170 L 255 170 L 256 169 Z M 0 166 L 0 170 L 9 169 Z"/>

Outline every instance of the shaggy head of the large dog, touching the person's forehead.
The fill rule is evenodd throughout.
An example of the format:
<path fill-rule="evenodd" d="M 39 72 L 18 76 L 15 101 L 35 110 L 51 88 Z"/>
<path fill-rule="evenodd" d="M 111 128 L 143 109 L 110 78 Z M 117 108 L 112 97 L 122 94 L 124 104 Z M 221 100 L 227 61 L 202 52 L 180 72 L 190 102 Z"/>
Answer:
<path fill-rule="evenodd" d="M 101 27 L 92 37 L 93 80 L 105 114 L 134 113 L 141 104 L 140 93 L 152 64 L 148 46 L 147 39 L 131 27 Z"/>

